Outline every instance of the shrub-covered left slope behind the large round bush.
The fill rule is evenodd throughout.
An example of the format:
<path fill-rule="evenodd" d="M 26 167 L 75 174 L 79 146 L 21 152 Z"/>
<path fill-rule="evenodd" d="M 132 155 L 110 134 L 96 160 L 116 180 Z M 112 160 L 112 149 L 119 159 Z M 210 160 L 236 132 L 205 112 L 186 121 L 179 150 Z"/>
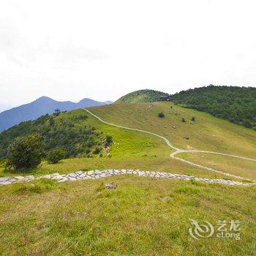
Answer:
<path fill-rule="evenodd" d="M 91 124 L 86 123 L 88 116 L 45 115 L 35 121 L 25 121 L 0 133 L 0 158 L 7 156 L 7 148 L 18 136 L 37 133 L 45 141 L 45 150 L 60 147 L 66 157 L 90 157 L 91 154 L 104 152 L 106 137 Z M 85 122 L 82 122 L 85 121 Z"/>

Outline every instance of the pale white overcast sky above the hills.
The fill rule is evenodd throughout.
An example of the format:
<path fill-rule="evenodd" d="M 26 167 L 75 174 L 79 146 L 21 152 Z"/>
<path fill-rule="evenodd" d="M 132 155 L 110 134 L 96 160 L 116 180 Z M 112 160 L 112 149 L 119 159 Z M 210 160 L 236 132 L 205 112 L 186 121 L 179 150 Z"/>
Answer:
<path fill-rule="evenodd" d="M 1 0 L 0 108 L 256 86 L 255 0 Z"/>

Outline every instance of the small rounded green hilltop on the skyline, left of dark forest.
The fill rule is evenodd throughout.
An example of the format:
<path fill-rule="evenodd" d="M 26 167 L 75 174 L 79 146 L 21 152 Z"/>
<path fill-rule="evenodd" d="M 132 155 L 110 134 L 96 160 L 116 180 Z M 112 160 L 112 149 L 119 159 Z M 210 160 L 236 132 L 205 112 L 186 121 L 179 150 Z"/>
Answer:
<path fill-rule="evenodd" d="M 145 89 L 126 94 L 118 99 L 115 103 L 157 102 L 161 96 L 167 95 L 168 94 L 165 94 L 162 91 Z"/>

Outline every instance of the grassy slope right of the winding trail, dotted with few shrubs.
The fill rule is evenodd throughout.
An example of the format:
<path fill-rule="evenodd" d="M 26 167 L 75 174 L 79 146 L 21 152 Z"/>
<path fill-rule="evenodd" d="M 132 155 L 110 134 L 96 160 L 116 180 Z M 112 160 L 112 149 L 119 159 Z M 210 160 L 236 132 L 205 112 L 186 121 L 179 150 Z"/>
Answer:
<path fill-rule="evenodd" d="M 181 108 L 170 102 L 109 105 L 104 108 L 91 108 L 91 111 L 103 120 L 110 121 L 113 124 L 156 132 L 168 138 L 178 148 L 217 151 L 256 159 L 255 131 L 231 124 L 207 113 Z M 157 116 L 159 112 L 165 113 L 165 118 L 159 118 Z M 195 117 L 194 122 L 190 121 L 192 116 Z M 182 117 L 186 122 L 181 121 Z M 200 161 L 197 161 L 197 155 L 200 156 L 200 154 L 189 155 L 195 155 L 196 161 L 194 162 L 205 166 L 215 167 L 219 170 L 217 167 L 225 162 L 225 168 L 222 165 L 220 170 L 235 175 L 240 173 L 241 176 L 244 175 L 246 178 L 256 178 L 255 162 L 224 156 L 216 157 L 212 154 L 208 154 L 208 157 L 202 157 Z M 213 159 L 211 164 L 209 164 L 207 158 Z"/>

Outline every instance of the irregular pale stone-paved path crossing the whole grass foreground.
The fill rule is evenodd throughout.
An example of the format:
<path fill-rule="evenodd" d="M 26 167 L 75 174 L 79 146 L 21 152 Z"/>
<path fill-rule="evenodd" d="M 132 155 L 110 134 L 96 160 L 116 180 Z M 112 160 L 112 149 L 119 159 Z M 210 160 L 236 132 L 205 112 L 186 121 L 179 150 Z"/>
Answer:
<path fill-rule="evenodd" d="M 132 176 L 143 176 L 148 178 L 168 178 L 168 179 L 178 179 L 184 181 L 200 181 L 206 182 L 209 184 L 224 184 L 229 186 L 243 186 L 243 187 L 251 187 L 255 186 L 256 183 L 243 183 L 238 181 L 230 181 L 221 178 L 196 178 L 194 176 L 187 176 L 182 174 L 174 174 L 174 173 L 164 173 L 157 171 L 143 171 L 143 170 L 90 170 L 88 172 L 83 172 L 82 170 L 78 170 L 75 173 L 67 173 L 60 175 L 59 173 L 48 174 L 45 176 L 39 176 L 35 178 L 34 176 L 15 176 L 15 177 L 3 177 L 0 178 L 0 186 L 14 184 L 20 181 L 33 181 L 34 179 L 40 178 L 50 178 L 59 182 L 64 181 L 80 181 L 86 179 L 98 179 L 105 178 L 109 176 L 118 176 L 118 175 L 132 175 Z"/>

